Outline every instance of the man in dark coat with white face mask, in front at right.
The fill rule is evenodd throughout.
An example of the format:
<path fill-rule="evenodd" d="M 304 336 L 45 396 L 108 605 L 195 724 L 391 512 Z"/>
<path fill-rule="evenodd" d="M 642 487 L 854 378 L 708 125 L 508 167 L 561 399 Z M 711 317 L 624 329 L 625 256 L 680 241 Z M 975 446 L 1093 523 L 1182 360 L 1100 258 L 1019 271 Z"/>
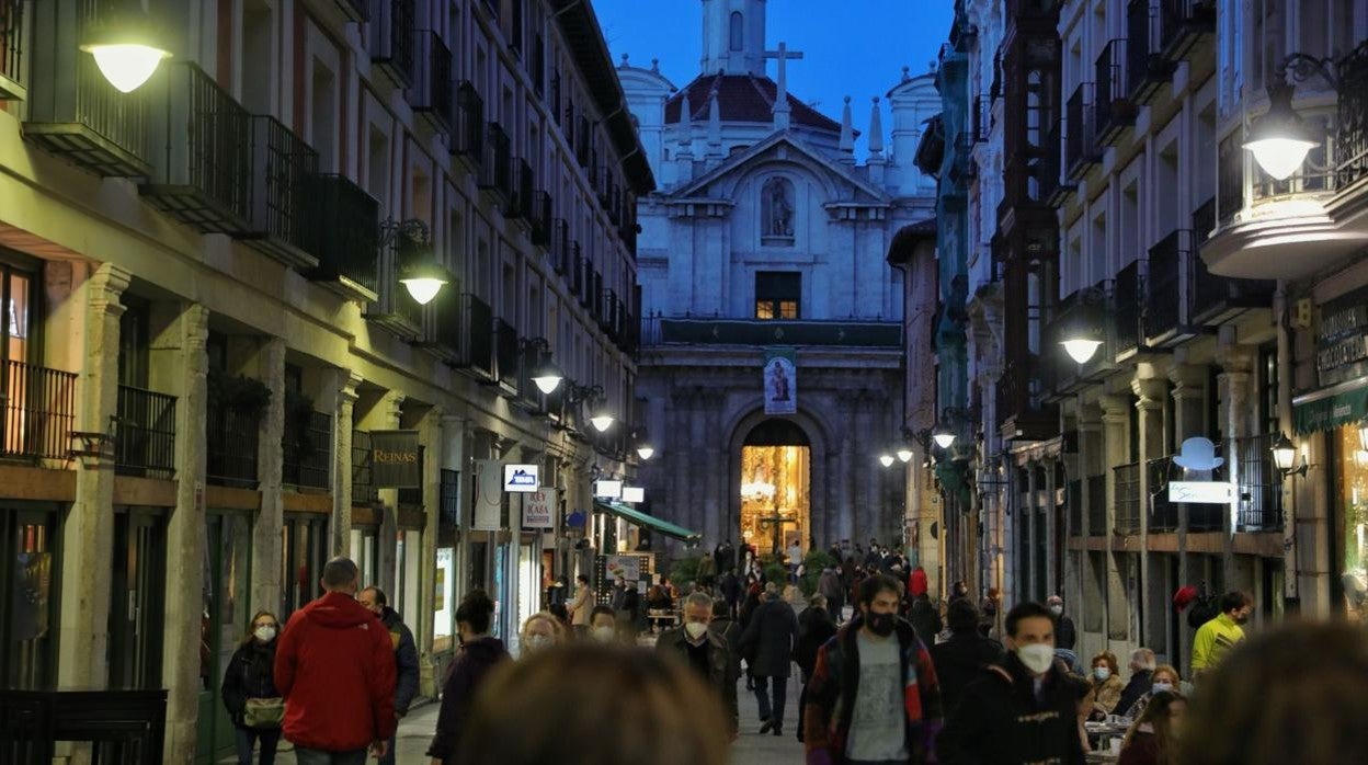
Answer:
<path fill-rule="evenodd" d="M 1079 686 L 1055 662 L 1055 617 L 1036 602 L 1007 613 L 1007 660 L 964 688 L 937 739 L 943 765 L 1081 765 Z"/>

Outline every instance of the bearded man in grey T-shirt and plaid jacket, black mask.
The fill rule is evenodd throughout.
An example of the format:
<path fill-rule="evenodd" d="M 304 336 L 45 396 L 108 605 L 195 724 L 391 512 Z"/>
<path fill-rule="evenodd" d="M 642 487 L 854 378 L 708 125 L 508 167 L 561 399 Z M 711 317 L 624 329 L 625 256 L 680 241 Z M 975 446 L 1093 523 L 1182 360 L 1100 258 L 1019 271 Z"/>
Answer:
<path fill-rule="evenodd" d="M 807 765 L 934 762 L 943 723 L 930 651 L 897 619 L 897 582 L 859 584 L 859 609 L 817 651 L 803 709 Z"/>

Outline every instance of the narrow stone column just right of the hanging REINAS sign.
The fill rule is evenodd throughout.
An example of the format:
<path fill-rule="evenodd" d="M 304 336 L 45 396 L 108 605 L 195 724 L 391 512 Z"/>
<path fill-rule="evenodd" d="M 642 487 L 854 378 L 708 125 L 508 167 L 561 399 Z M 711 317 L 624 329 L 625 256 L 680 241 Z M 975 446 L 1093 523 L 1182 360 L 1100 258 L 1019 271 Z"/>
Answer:
<path fill-rule="evenodd" d="M 427 415 L 419 423 L 419 445 L 423 446 L 423 543 L 421 552 L 409 552 L 405 549 L 405 554 L 421 554 L 423 561 L 419 564 L 419 580 L 413 582 L 410 587 L 417 587 L 419 590 L 419 612 L 405 613 L 404 617 L 409 623 L 409 628 L 413 630 L 413 640 L 417 643 L 419 649 L 419 695 L 428 698 L 436 698 L 436 662 L 432 658 L 432 619 L 435 616 L 434 606 L 436 605 L 436 590 L 434 588 L 434 572 L 436 571 L 436 536 L 438 536 L 438 521 L 442 515 L 442 431 L 446 424 L 443 411 L 440 406 L 434 406 L 428 409 Z M 554 486 L 554 476 L 551 476 L 551 483 Z M 402 604 L 395 605 L 395 608 L 402 608 Z"/>

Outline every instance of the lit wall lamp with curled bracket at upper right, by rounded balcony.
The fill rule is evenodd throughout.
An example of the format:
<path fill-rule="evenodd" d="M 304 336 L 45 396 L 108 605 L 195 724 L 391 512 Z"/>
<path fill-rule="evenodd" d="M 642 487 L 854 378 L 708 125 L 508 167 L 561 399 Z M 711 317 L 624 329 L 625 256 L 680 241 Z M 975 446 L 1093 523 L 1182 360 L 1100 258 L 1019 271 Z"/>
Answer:
<path fill-rule="evenodd" d="M 1275 181 L 1286 181 L 1306 161 L 1311 149 L 1320 141 L 1306 129 L 1301 115 L 1291 105 L 1295 86 L 1278 79 L 1290 74 L 1302 81 L 1319 74 L 1331 89 L 1339 92 L 1339 75 L 1334 59 L 1317 59 L 1306 53 L 1291 53 L 1282 66 L 1274 70 L 1274 82 L 1268 86 L 1268 112 L 1260 116 L 1249 129 L 1245 148 L 1254 155 L 1254 161 Z"/>

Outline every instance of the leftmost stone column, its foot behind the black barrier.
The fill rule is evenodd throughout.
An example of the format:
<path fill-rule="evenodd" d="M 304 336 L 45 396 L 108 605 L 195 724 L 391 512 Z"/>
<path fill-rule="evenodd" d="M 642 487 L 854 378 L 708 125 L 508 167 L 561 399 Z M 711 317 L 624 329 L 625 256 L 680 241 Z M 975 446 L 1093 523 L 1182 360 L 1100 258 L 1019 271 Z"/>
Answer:
<path fill-rule="evenodd" d="M 83 285 L 79 419 L 74 430 L 111 431 L 119 396 L 119 296 L 130 278 L 127 271 L 105 263 Z M 114 448 L 107 445 L 104 456 L 77 461 L 77 498 L 63 526 L 57 687 L 103 688 L 108 682 L 112 539 Z"/>

